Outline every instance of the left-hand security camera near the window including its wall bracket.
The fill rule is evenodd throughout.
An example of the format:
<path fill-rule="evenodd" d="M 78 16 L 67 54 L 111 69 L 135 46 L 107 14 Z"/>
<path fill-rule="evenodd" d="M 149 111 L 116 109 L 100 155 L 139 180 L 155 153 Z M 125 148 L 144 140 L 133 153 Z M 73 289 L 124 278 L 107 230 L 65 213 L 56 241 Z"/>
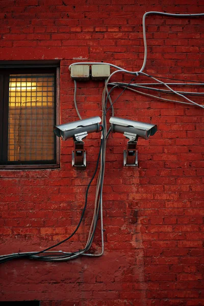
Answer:
<path fill-rule="evenodd" d="M 86 151 L 82 141 L 89 133 L 99 132 L 100 117 L 91 117 L 74 122 L 54 126 L 54 133 L 63 140 L 73 138 L 74 150 L 72 151 L 72 166 L 86 167 Z"/>

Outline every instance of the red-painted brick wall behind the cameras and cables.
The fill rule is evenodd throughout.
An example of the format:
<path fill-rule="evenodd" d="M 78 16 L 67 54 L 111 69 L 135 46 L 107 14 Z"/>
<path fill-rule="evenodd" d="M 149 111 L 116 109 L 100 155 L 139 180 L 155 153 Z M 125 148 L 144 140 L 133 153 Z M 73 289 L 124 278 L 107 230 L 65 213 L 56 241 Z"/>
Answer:
<path fill-rule="evenodd" d="M 139 70 L 142 16 L 153 10 L 200 13 L 204 7 L 201 0 L 1 1 L 0 60 L 61 60 L 61 122 L 77 120 L 68 66 L 106 61 Z M 203 17 L 148 16 L 144 72 L 203 81 L 203 29 Z M 114 81 L 130 80 L 116 75 Z M 101 115 L 103 85 L 78 83 L 83 118 Z M 159 131 L 139 140 L 138 169 L 123 167 L 122 135 L 108 140 L 104 256 L 59 264 L 8 262 L 1 266 L 1 300 L 37 299 L 41 306 L 204 305 L 203 111 L 126 91 L 115 103 L 115 115 L 157 123 Z M 73 231 L 98 145 L 98 134 L 87 137 L 86 170 L 71 167 L 68 140 L 62 143 L 60 169 L 0 171 L 1 254 L 35 251 Z M 94 186 L 80 230 L 59 249 L 84 246 L 93 200 Z M 100 250 L 99 230 L 92 250 Z"/>

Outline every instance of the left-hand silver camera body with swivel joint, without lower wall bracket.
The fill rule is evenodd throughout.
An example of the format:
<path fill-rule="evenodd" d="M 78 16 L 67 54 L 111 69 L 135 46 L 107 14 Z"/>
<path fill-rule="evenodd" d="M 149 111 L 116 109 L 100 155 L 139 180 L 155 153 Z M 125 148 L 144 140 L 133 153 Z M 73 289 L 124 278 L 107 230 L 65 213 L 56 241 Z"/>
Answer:
<path fill-rule="evenodd" d="M 100 117 L 91 117 L 74 122 L 64 123 L 54 126 L 54 133 L 63 140 L 74 138 L 75 141 L 81 141 L 89 133 L 99 132 Z"/>

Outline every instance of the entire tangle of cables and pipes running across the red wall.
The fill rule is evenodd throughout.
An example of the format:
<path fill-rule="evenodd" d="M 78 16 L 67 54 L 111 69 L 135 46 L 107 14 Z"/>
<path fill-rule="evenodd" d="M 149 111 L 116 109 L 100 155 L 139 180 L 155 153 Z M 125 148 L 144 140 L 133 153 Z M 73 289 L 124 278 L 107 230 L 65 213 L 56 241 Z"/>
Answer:
<path fill-rule="evenodd" d="M 187 96 L 200 96 L 200 95 L 204 95 L 204 92 L 187 92 L 187 91 L 176 91 L 174 89 L 172 89 L 170 87 L 171 86 L 191 86 L 191 85 L 203 85 L 204 83 L 201 82 L 194 82 L 194 81 L 186 81 L 186 80 L 182 80 L 185 83 L 181 83 L 181 80 L 179 80 L 179 83 L 165 83 L 163 81 L 160 81 L 159 79 L 161 79 L 161 77 L 155 77 L 154 75 L 149 75 L 147 73 L 144 73 L 143 70 L 145 68 L 146 65 L 146 59 L 147 59 L 147 43 L 146 43 L 146 32 L 145 32 L 145 18 L 147 15 L 149 14 L 157 14 L 157 15 L 163 15 L 163 16 L 171 16 L 171 17 L 201 17 L 204 16 L 204 13 L 202 14 L 169 14 L 169 13 L 163 13 L 163 12 L 147 12 L 144 14 L 143 16 L 143 39 L 144 39 L 144 60 L 143 60 L 143 65 L 141 67 L 141 69 L 139 71 L 129 71 L 126 69 L 123 69 L 119 66 L 110 64 L 110 63 L 100 63 L 100 62 L 79 62 L 79 63 L 73 63 L 69 66 L 69 69 L 71 68 L 72 65 L 96 65 L 96 64 L 108 64 L 114 68 L 116 68 L 117 70 L 114 71 L 113 73 L 111 73 L 110 77 L 106 80 L 105 82 L 105 87 L 103 90 L 103 94 L 102 94 L 102 112 L 103 112 L 103 116 L 102 116 L 102 125 L 103 125 L 103 131 L 101 132 L 101 141 L 100 141 L 100 149 L 99 149 L 99 153 L 98 153 L 98 158 L 97 158 L 97 162 L 96 162 L 96 168 L 94 170 L 93 176 L 91 177 L 91 180 L 87 186 L 87 190 L 86 190 L 86 196 L 85 196 L 85 205 L 84 208 L 82 210 L 82 214 L 81 214 L 81 218 L 80 221 L 77 225 L 77 227 L 75 228 L 75 230 L 73 231 L 73 233 L 67 237 L 66 239 L 60 241 L 59 243 L 47 247 L 43 250 L 40 251 L 33 251 L 33 252 L 20 252 L 20 253 L 12 253 L 12 254 L 7 254 L 7 255 L 2 255 L 0 256 L 0 263 L 4 263 L 7 262 L 9 260 L 12 259 L 20 259 L 20 258 L 27 258 L 27 259 L 36 259 L 36 260 L 42 260 L 42 261 L 49 261 L 49 262 L 61 262 L 61 261 L 68 261 L 74 258 L 78 258 L 79 256 L 89 256 L 89 257 L 98 257 L 101 256 L 104 252 L 104 235 L 103 235 L 103 184 L 104 184 L 104 172 L 105 172 L 105 160 L 106 160 L 106 142 L 107 142 L 107 138 L 109 137 L 110 134 L 110 129 L 107 132 L 107 122 L 106 122 L 106 115 L 107 112 L 109 111 L 109 109 L 111 108 L 112 110 L 112 116 L 114 116 L 114 107 L 113 104 L 117 101 L 117 99 L 119 98 L 119 96 L 126 90 L 131 90 L 133 92 L 142 94 L 142 95 L 146 95 L 152 98 L 157 98 L 160 99 L 162 101 L 170 101 L 173 103 L 180 103 L 180 104 L 186 104 L 186 105 L 194 105 L 200 108 L 204 108 L 203 105 L 200 105 L 198 103 L 195 103 L 193 100 L 189 99 Z M 113 83 L 109 83 L 110 79 L 113 77 L 113 75 L 115 73 L 118 72 L 122 72 L 122 73 L 127 73 L 127 74 L 131 74 L 133 75 L 133 79 L 131 80 L 130 83 L 121 83 L 121 82 L 113 82 Z M 138 77 L 138 75 L 142 75 L 148 78 L 151 78 L 152 80 L 156 81 L 156 83 L 137 83 L 137 84 L 133 84 L 134 80 L 136 79 L 136 77 Z M 168 79 L 168 78 L 163 78 L 163 79 Z M 174 80 L 175 81 L 175 80 Z M 188 82 L 188 83 L 186 83 Z M 190 82 L 190 83 L 189 83 Z M 164 85 L 167 89 L 161 89 L 161 88 L 155 88 L 152 87 L 156 86 L 156 85 Z M 108 86 L 111 86 L 111 90 L 108 90 Z M 118 95 L 118 97 L 113 101 L 111 100 L 111 93 L 113 92 L 113 90 L 115 88 L 122 88 L 122 92 Z M 140 89 L 140 90 L 138 90 Z M 175 94 L 177 96 L 182 97 L 185 101 L 180 101 L 180 100 L 173 100 L 173 99 L 167 99 L 167 98 L 162 98 L 160 96 L 156 96 L 156 95 L 152 95 L 149 93 L 146 93 L 144 91 L 141 90 L 150 90 L 150 91 L 156 91 L 156 92 L 160 92 L 160 93 L 165 93 L 165 94 Z M 78 107 L 77 107 L 77 100 L 76 100 L 76 95 L 77 95 L 77 82 L 74 81 L 74 106 L 75 109 L 77 111 L 77 114 L 79 116 L 80 119 L 82 119 Z M 108 101 L 110 102 L 110 107 L 107 108 L 107 104 Z M 86 242 L 86 245 L 83 249 L 77 250 L 75 252 L 65 252 L 65 251 L 55 251 L 53 250 L 53 248 L 61 245 L 62 243 L 67 242 L 75 233 L 77 233 L 81 222 L 84 218 L 85 215 L 85 211 L 86 211 L 86 207 L 87 207 L 87 201 L 88 201 L 88 191 L 90 188 L 90 185 L 96 175 L 97 172 L 97 168 L 99 165 L 99 160 L 100 160 L 100 169 L 98 172 L 98 179 L 97 179 L 97 185 L 96 185 L 96 192 L 95 192 L 95 205 L 94 205 L 94 213 L 93 213 L 93 218 L 92 218 L 92 222 L 90 225 L 90 231 L 88 234 L 88 239 Z M 100 214 L 100 230 L 101 230 L 101 252 L 98 254 L 92 254 L 92 253 L 87 253 L 88 250 L 91 247 L 91 244 L 93 242 L 94 239 L 94 234 L 95 234 L 95 230 L 96 230 L 96 226 L 97 226 L 97 220 Z"/>

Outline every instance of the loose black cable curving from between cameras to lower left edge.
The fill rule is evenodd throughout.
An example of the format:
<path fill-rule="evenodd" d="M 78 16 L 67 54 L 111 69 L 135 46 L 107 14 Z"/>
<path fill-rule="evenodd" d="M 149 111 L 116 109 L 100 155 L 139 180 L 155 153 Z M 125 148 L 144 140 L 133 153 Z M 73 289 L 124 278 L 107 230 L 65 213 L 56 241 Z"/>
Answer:
<path fill-rule="evenodd" d="M 98 158 L 97 158 L 97 162 L 96 162 L 96 167 L 95 167 L 94 173 L 93 173 L 93 175 L 92 175 L 92 177 L 91 177 L 91 180 L 90 180 L 90 182 L 89 182 L 89 184 L 88 184 L 88 186 L 87 186 L 84 209 L 83 209 L 83 211 L 82 211 L 82 215 L 81 215 L 80 221 L 79 221 L 77 227 L 75 228 L 75 230 L 73 231 L 73 233 L 72 233 L 69 237 L 67 237 L 66 239 L 64 239 L 64 240 L 62 240 L 62 241 L 56 243 L 56 244 L 53 245 L 53 246 L 50 246 L 50 247 L 45 248 L 45 249 L 42 250 L 42 251 L 35 252 L 35 253 L 30 253 L 30 254 L 29 254 L 29 253 L 27 253 L 27 254 L 20 254 L 20 253 L 19 253 L 18 256 L 15 255 L 13 258 L 12 258 L 12 257 L 9 257 L 9 258 L 7 257 L 7 258 L 5 258 L 5 259 L 1 259 L 1 258 L 0 258 L 0 263 L 3 263 L 3 262 L 5 262 L 5 261 L 8 261 L 8 260 L 11 260 L 11 259 L 14 259 L 14 258 L 24 258 L 24 257 L 30 257 L 30 258 L 32 258 L 32 256 L 36 256 L 37 254 L 43 253 L 43 252 L 45 252 L 45 251 L 47 251 L 47 250 L 49 250 L 49 249 L 52 249 L 52 248 L 54 248 L 54 247 L 56 247 L 56 246 L 62 244 L 62 243 L 65 242 L 65 241 L 69 240 L 69 239 L 78 231 L 78 229 L 79 229 L 79 227 L 80 227 L 80 225 L 81 225 L 82 219 L 83 219 L 83 217 L 84 217 L 84 214 L 85 214 L 85 210 L 86 210 L 86 206 L 87 206 L 88 191 L 89 191 L 90 185 L 91 185 L 91 183 L 92 183 L 92 181 L 93 181 L 93 179 L 94 179 L 94 177 L 95 177 L 95 174 L 96 174 L 96 172 L 97 172 L 97 169 L 98 169 L 98 164 L 99 164 L 100 152 L 101 152 L 102 144 L 103 144 L 103 139 L 101 139 L 101 141 L 100 141 L 100 149 L 99 149 Z M 77 252 L 78 252 L 78 251 L 77 251 Z M 77 253 L 77 252 L 73 252 L 73 253 Z M 11 255 L 12 255 L 12 254 L 11 254 Z"/>

